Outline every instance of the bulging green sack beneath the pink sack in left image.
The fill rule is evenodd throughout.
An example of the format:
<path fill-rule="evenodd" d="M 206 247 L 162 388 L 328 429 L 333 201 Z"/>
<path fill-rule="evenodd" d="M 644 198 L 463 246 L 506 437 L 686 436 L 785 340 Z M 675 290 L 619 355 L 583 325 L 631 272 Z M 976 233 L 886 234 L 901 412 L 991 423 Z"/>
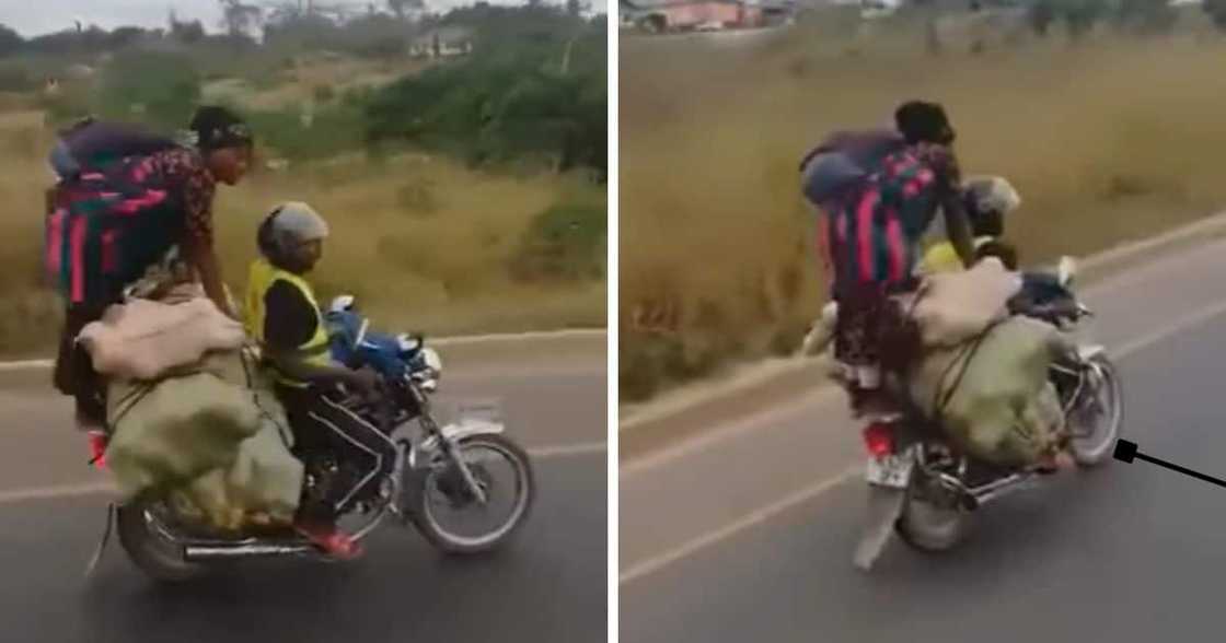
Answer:
<path fill-rule="evenodd" d="M 303 467 L 284 409 L 237 354 L 154 383 L 113 382 L 109 400 L 107 461 L 124 500 L 161 495 L 215 529 L 293 519 Z"/>

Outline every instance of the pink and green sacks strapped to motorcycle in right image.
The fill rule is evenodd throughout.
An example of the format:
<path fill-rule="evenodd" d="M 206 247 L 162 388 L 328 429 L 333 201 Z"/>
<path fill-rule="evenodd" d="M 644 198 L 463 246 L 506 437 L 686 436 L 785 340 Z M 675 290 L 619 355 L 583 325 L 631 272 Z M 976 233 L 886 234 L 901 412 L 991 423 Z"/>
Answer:
<path fill-rule="evenodd" d="M 1048 369 L 1075 352 L 1056 327 L 1009 314 L 1020 289 L 1018 273 L 983 261 L 929 276 L 917 294 L 897 298 L 921 338 L 902 393 L 959 448 L 1002 467 L 1035 462 L 1062 429 Z M 807 340 L 809 353 L 825 348 L 836 316 L 828 307 Z"/>

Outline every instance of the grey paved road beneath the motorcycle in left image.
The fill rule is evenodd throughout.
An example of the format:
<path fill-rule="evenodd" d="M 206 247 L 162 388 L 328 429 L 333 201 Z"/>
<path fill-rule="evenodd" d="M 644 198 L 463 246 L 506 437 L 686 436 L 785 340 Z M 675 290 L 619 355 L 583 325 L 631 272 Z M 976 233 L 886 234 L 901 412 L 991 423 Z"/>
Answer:
<path fill-rule="evenodd" d="M 445 560 L 389 524 L 353 565 L 262 561 L 169 590 L 118 547 L 83 578 L 104 521 L 89 487 L 101 478 L 83 467 L 69 405 L 34 388 L 45 376 L 0 392 L 0 641 L 606 641 L 602 360 L 449 374 L 451 399 L 499 398 L 537 454 L 538 503 L 505 551 Z"/>

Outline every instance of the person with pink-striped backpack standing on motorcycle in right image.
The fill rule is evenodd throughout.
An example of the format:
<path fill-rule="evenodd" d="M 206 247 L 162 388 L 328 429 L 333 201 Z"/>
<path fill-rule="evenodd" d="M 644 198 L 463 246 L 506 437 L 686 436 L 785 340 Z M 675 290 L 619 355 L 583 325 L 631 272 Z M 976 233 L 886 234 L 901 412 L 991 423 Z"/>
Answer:
<path fill-rule="evenodd" d="M 883 369 L 908 359 L 897 354 L 907 343 L 890 340 L 895 350 L 881 344 L 907 327 L 894 298 L 918 288 L 921 239 L 938 209 L 962 265 L 973 261 L 955 133 L 944 108 L 907 102 L 895 111 L 895 125 L 897 136 L 831 137 L 802 165 L 805 197 L 825 213 L 821 250 L 830 299 L 839 307 L 835 359 L 856 414 L 890 405 L 880 394 Z"/>

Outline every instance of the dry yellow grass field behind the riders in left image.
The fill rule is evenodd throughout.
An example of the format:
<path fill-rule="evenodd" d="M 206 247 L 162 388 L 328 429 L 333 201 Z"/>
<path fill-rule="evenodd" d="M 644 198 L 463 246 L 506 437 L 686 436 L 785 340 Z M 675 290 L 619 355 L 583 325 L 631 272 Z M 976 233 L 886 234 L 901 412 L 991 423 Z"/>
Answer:
<path fill-rule="evenodd" d="M 59 304 L 42 288 L 42 189 L 50 136 L 40 114 L 0 114 L 0 352 L 45 353 Z M 242 294 L 255 229 L 281 201 L 306 201 L 332 238 L 314 279 L 321 296 L 349 291 L 381 327 L 432 334 L 603 326 L 603 283 L 522 283 L 508 262 L 532 218 L 559 201 L 601 203 L 604 194 L 570 176 L 479 174 L 439 157 L 383 164 L 360 158 L 261 173 L 221 187 L 216 227 L 226 282 Z"/>

